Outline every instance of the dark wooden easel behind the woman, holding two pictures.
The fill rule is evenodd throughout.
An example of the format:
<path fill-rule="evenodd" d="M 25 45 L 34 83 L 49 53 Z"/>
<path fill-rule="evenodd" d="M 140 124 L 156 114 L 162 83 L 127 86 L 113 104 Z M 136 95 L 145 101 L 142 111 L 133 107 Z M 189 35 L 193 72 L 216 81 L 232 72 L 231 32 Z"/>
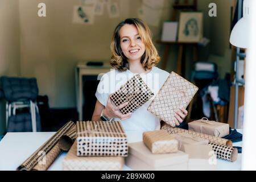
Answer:
<path fill-rule="evenodd" d="M 179 13 L 179 11 L 181 10 L 192 10 L 192 11 L 196 11 L 197 10 L 197 0 L 193 0 L 193 4 L 189 5 L 188 0 L 184 0 L 183 3 L 180 3 L 179 0 L 176 0 L 174 5 L 172 6 L 174 11 L 172 13 L 172 21 L 177 21 L 177 19 L 179 18 L 177 15 Z M 179 51 L 178 51 L 178 56 L 177 56 L 177 66 L 176 66 L 176 73 L 184 76 L 185 72 L 184 72 L 184 52 L 185 52 L 185 45 L 187 44 L 192 44 L 193 45 L 193 61 L 197 61 L 198 59 L 198 47 L 197 47 L 197 43 L 191 43 L 191 42 L 163 42 L 162 40 L 157 40 L 157 43 L 162 43 L 164 44 L 165 48 L 164 48 L 164 55 L 163 55 L 163 63 L 162 63 L 162 69 L 166 69 L 166 65 L 167 65 L 167 61 L 168 61 L 168 56 L 169 56 L 169 52 L 170 52 L 170 46 L 171 44 L 177 44 L 179 46 Z"/>

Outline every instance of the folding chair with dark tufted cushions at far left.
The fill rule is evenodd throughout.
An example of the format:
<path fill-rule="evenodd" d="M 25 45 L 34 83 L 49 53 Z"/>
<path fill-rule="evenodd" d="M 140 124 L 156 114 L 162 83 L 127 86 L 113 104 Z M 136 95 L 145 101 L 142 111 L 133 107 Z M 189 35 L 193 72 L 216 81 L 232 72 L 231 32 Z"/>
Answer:
<path fill-rule="evenodd" d="M 36 78 L 3 76 L 0 80 L 2 97 L 6 100 L 7 132 L 40 131 Z"/>

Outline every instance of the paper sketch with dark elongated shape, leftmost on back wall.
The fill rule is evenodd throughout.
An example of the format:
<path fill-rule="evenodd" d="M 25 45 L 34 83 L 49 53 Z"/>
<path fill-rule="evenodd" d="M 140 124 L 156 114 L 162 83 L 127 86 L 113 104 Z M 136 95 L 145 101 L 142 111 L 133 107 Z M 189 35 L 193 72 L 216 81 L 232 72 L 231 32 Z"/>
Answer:
<path fill-rule="evenodd" d="M 94 6 L 75 5 L 73 11 L 73 23 L 94 23 Z"/>

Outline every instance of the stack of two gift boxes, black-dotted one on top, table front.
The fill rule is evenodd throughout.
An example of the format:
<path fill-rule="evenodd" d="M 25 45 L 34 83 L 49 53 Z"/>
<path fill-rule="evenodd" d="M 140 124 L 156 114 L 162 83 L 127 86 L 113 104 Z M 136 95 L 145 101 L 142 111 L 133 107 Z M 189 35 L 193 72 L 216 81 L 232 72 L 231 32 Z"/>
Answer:
<path fill-rule="evenodd" d="M 77 139 L 63 160 L 64 171 L 123 169 L 128 146 L 120 122 L 79 121 L 76 127 Z"/>

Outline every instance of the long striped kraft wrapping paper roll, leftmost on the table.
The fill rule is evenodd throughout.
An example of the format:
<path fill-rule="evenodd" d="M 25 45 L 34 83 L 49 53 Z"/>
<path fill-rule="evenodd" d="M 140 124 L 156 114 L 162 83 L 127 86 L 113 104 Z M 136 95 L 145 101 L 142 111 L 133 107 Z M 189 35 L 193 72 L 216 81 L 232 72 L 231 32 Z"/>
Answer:
<path fill-rule="evenodd" d="M 51 138 L 47 140 L 42 146 L 38 148 L 27 160 L 25 160 L 18 168 L 17 170 L 32 170 L 36 164 L 39 162 L 43 162 L 44 158 L 49 154 L 49 152 L 57 145 L 57 142 L 59 142 L 59 139 L 68 133 L 68 131 L 75 126 L 75 123 L 72 121 L 67 122 L 59 131 L 57 131 Z M 54 148 L 54 151 L 56 148 Z M 55 153 L 52 151 L 50 154 Z M 57 150 L 59 151 L 59 150 Z M 57 157 L 57 156 L 56 156 Z"/>

